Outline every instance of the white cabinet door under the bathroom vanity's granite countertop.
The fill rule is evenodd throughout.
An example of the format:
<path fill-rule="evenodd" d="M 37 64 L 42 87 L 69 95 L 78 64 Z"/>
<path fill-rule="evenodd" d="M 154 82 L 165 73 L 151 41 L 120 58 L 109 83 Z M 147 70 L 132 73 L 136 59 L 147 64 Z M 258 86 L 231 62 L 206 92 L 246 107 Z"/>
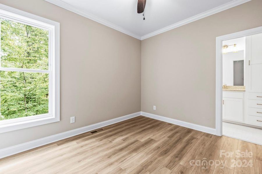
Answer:
<path fill-rule="evenodd" d="M 243 99 L 224 97 L 222 107 L 223 119 L 243 122 Z"/>

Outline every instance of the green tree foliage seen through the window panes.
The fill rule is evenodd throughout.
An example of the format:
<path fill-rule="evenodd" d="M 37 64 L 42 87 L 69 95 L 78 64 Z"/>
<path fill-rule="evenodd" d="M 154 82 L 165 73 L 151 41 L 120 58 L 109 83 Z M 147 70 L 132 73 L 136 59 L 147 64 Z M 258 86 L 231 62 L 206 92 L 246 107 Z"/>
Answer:
<path fill-rule="evenodd" d="M 48 70 L 48 30 L 1 19 L 1 67 Z M 0 71 L 0 119 L 48 113 L 48 73 Z"/>

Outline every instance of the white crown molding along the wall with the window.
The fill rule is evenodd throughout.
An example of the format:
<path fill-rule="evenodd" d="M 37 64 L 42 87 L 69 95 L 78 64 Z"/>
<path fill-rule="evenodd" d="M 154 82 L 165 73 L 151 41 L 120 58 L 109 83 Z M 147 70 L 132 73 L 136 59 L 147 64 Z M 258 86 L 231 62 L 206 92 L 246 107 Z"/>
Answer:
<path fill-rule="evenodd" d="M 117 31 L 120 31 L 120 32 L 122 32 L 122 33 L 125 33 L 126 35 L 129 35 L 129 36 L 132 36 L 132 37 L 134 37 L 134 38 L 136 38 L 136 39 L 141 40 L 141 36 L 135 35 L 134 33 L 129 32 L 128 30 L 125 30 L 124 28 L 119 27 L 119 26 L 117 26 L 117 25 L 115 25 L 115 24 L 113 24 L 113 23 L 111 23 L 111 22 L 109 22 L 109 21 L 106 21 L 106 20 L 104 20 L 104 19 L 102 19 L 102 18 L 100 18 L 100 17 L 97 17 L 97 16 L 95 16 L 95 15 L 93 15 L 93 14 L 91 14 L 91 13 L 84 12 L 84 11 L 80 11 L 80 10 L 78 10 L 77 8 L 69 5 L 68 3 L 65 3 L 65 2 L 60 1 L 60 0 L 45 0 L 45 1 L 47 1 L 47 2 L 49 2 L 49 3 L 52 3 L 52 4 L 56 5 L 56 6 L 59 6 L 59 7 L 61 7 L 61 8 L 64 8 L 64 9 L 66 9 L 66 10 L 69 10 L 69 11 L 71 11 L 71 12 L 74 12 L 74 13 L 76 13 L 76 14 L 79 14 L 79 15 L 81 15 L 81 16 L 83 16 L 83 17 L 86 17 L 86 18 L 88 18 L 88 19 L 91 19 L 91 20 L 93 20 L 93 21 L 96 21 L 96 22 L 98 22 L 98 23 L 101 23 L 101 24 L 103 24 L 103 25 L 105 25 L 105 26 L 108 26 L 108 27 L 110 27 L 110 28 L 113 28 L 113 29 L 115 29 L 115 30 L 117 30 Z"/>

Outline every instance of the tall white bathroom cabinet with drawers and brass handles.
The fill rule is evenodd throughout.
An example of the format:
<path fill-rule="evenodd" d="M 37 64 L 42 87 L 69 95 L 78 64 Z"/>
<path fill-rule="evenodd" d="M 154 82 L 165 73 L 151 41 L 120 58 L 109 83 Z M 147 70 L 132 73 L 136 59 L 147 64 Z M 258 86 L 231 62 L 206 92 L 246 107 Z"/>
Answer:
<path fill-rule="evenodd" d="M 262 34 L 246 37 L 246 123 L 262 126 Z"/>

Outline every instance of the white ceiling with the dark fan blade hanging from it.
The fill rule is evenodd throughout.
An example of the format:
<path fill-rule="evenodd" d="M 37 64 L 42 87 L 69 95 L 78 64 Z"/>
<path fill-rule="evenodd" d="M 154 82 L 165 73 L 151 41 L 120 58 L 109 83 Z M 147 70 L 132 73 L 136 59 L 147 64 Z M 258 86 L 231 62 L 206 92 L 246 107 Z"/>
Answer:
<path fill-rule="evenodd" d="M 138 39 L 143 39 L 147 35 L 150 37 L 161 33 L 157 30 L 167 26 L 175 24 L 171 28 L 166 28 L 166 30 L 176 28 L 184 23 L 201 19 L 250 0 L 147 0 L 146 20 L 143 20 L 142 14 L 137 13 L 137 0 L 46 1 Z"/>

